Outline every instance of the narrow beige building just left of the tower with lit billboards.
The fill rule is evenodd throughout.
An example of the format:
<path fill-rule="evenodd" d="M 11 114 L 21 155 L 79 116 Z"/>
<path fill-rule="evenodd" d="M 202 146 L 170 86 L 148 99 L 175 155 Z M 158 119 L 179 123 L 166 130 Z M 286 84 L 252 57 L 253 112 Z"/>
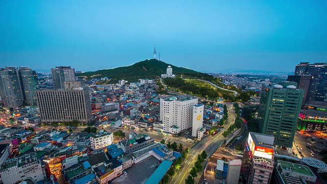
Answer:
<path fill-rule="evenodd" d="M 240 159 L 229 160 L 227 172 L 227 184 L 239 183 L 242 161 Z"/>

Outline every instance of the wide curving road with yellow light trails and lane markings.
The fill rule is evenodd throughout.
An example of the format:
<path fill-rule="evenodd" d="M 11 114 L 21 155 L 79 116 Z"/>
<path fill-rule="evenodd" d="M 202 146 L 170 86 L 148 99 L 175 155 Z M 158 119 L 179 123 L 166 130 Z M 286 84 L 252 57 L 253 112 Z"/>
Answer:
<path fill-rule="evenodd" d="M 226 103 L 226 105 L 228 109 L 228 120 L 226 121 L 224 129 L 227 129 L 235 121 L 236 118 L 233 104 Z M 198 159 L 198 155 L 201 154 L 203 150 L 205 150 L 207 155 L 211 156 L 224 142 L 224 136 L 222 136 L 222 133 L 223 130 L 220 130 L 215 136 L 207 135 L 207 137 L 205 137 L 204 140 L 202 140 L 200 143 L 196 144 L 193 148 L 191 148 L 189 155 L 184 159 L 181 168 L 179 169 L 177 174 L 173 177 L 170 183 L 172 184 L 185 183 L 185 178 L 187 178 L 190 175 L 189 172 L 191 168 L 194 167 L 194 163 Z M 203 170 L 201 172 L 203 172 Z M 195 180 L 195 183 L 198 183 L 198 181 Z"/>

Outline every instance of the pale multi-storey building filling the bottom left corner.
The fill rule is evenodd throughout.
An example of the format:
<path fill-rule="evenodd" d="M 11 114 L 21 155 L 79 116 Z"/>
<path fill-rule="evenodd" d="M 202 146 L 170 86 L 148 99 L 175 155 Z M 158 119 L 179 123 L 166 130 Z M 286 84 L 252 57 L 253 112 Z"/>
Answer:
<path fill-rule="evenodd" d="M 42 170 L 41 161 L 37 159 L 36 153 L 28 153 L 6 160 L 0 166 L 0 175 L 3 182 L 8 184 L 14 184 L 25 178 L 30 178 L 36 183 L 45 178 L 45 171 Z"/>

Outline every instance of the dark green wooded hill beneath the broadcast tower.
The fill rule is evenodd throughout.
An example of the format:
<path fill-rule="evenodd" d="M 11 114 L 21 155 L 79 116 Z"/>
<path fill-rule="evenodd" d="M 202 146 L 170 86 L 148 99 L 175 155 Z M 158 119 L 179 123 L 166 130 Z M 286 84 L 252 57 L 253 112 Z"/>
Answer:
<path fill-rule="evenodd" d="M 157 59 L 149 59 L 145 61 L 140 61 L 130 66 L 122 66 L 113 69 L 99 70 L 95 72 L 85 72 L 76 74 L 77 76 L 86 76 L 87 79 L 108 77 L 111 82 L 118 82 L 118 80 L 124 79 L 128 82 L 135 82 L 138 79 L 154 79 L 161 74 L 166 73 L 167 66 L 172 66 L 173 74 L 190 74 L 194 73 L 201 75 L 203 73 L 196 72 L 194 70 L 177 67 L 172 64 L 168 64 Z M 203 74 L 207 75 L 207 74 Z"/>

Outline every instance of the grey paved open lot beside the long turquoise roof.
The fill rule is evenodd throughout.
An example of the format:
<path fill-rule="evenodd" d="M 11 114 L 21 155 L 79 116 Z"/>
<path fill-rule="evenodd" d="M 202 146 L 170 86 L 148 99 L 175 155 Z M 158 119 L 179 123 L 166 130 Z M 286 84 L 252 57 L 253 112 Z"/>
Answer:
<path fill-rule="evenodd" d="M 159 165 L 159 160 L 157 160 L 154 156 L 150 156 L 141 163 L 126 169 L 127 175 L 122 174 L 120 177 L 115 178 L 112 183 L 145 183 Z"/>

